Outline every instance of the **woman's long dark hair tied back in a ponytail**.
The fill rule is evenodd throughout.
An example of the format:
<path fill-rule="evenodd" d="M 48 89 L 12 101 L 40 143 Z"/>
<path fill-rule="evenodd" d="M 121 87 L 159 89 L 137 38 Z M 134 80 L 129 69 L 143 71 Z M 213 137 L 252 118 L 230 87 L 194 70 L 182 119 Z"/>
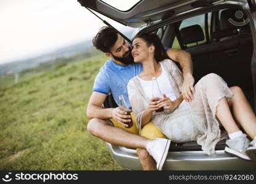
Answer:
<path fill-rule="evenodd" d="M 134 39 L 141 38 L 147 43 L 147 46 L 154 45 L 154 58 L 157 62 L 163 61 L 163 59 L 170 59 L 166 53 L 163 44 L 161 43 L 160 38 L 155 33 L 139 33 L 137 34 Z M 134 40 L 133 39 L 133 40 Z"/>

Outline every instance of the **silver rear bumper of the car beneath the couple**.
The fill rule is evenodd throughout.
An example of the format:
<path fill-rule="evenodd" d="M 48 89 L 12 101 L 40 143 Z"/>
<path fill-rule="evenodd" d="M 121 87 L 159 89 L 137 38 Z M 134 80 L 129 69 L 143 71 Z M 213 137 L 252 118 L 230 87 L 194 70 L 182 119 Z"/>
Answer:
<path fill-rule="evenodd" d="M 130 170 L 142 170 L 136 150 L 107 144 L 112 158 Z M 208 156 L 204 151 L 169 151 L 163 170 L 256 170 L 256 163 L 244 161 L 217 150 Z"/>

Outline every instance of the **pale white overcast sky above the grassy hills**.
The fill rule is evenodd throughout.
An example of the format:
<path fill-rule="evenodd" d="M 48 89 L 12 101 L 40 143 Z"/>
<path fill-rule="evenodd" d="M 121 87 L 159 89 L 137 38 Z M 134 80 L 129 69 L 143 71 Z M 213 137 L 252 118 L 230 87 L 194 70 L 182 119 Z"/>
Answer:
<path fill-rule="evenodd" d="M 126 10 L 138 0 L 105 0 Z M 126 26 L 104 18 L 117 29 Z M 105 26 L 77 0 L 0 0 L 0 64 L 90 40 Z"/>

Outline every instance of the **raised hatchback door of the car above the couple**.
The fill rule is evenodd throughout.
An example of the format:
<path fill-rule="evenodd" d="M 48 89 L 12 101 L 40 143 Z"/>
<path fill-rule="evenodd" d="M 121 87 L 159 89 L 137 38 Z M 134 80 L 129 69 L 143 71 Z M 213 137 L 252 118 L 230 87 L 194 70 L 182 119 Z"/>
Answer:
<path fill-rule="evenodd" d="M 168 18 L 175 12 L 208 6 L 221 0 L 142 0 L 126 11 L 118 10 L 104 2 L 104 0 L 78 1 L 82 6 L 95 10 L 123 25 L 138 28 L 142 25 Z M 120 1 L 120 3 L 122 2 Z"/>

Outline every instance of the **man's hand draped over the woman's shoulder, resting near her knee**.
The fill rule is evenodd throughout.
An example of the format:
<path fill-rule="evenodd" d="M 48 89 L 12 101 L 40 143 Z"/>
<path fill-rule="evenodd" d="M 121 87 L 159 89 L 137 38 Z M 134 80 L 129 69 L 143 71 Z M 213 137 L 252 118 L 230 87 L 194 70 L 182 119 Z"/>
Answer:
<path fill-rule="evenodd" d="M 185 101 L 192 101 L 193 94 L 195 93 L 195 88 L 193 87 L 195 79 L 191 74 L 186 74 L 184 76 L 184 83 L 182 84 L 181 92 L 183 99 Z"/>

